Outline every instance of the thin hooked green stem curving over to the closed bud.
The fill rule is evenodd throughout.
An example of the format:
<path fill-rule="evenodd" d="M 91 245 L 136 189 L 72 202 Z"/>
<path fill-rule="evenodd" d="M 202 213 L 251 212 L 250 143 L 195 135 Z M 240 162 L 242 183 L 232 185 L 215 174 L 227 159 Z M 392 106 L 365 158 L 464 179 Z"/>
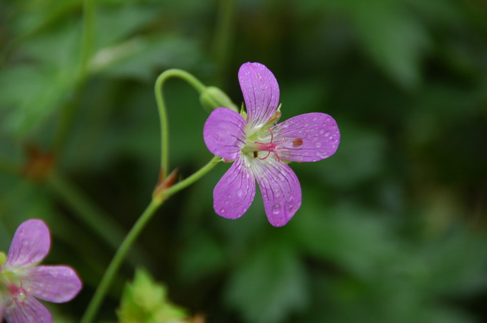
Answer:
<path fill-rule="evenodd" d="M 164 97 L 162 92 L 162 86 L 168 78 L 179 77 L 187 81 L 195 88 L 200 94 L 205 90 L 205 85 L 198 81 L 193 75 L 182 69 L 168 69 L 166 72 L 162 72 L 157 78 L 155 85 L 155 94 L 157 101 L 157 108 L 159 109 L 159 119 L 161 122 L 161 179 L 166 179 L 169 167 L 169 129 L 168 129 L 168 115 L 166 113 L 166 104 L 164 103 Z"/>

